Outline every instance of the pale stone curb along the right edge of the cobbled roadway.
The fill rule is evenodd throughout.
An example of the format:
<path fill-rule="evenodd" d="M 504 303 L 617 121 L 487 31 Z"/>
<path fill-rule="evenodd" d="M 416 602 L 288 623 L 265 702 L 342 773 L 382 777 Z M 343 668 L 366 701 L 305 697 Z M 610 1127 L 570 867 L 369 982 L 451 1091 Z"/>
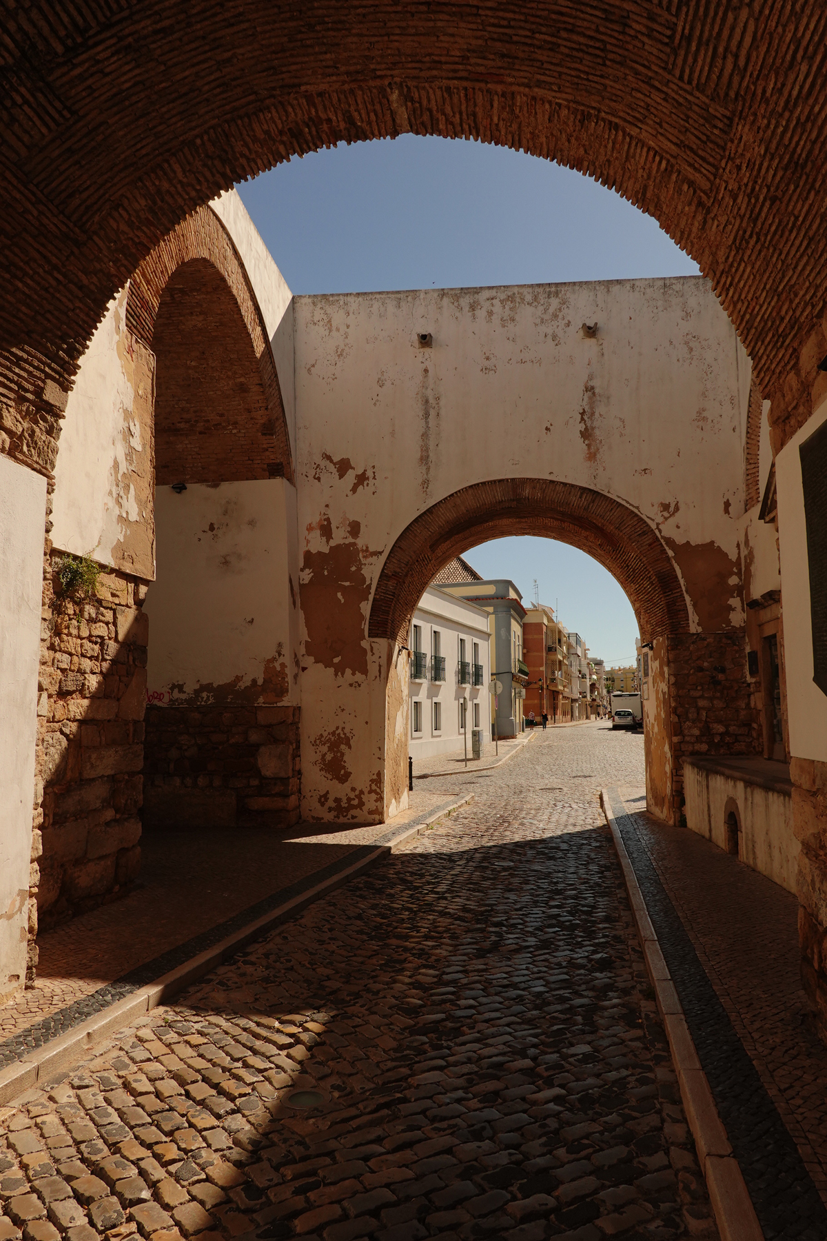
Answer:
<path fill-rule="evenodd" d="M 661 946 L 646 908 L 635 869 L 611 810 L 608 789 L 600 789 L 600 804 L 624 872 L 637 936 L 646 969 L 655 990 L 657 1008 L 670 1042 L 678 1076 L 681 1098 L 696 1142 L 698 1160 L 707 1181 L 709 1199 L 722 1241 L 764 1241 L 755 1207 L 749 1196 L 740 1165 L 733 1154 L 727 1129 L 701 1067 L 694 1040 L 683 1014 Z"/>

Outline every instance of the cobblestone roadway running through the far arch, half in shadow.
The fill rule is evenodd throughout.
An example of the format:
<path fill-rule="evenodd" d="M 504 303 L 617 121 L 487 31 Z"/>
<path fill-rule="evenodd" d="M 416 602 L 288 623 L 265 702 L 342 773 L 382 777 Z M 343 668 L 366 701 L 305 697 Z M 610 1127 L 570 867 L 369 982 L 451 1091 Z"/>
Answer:
<path fill-rule="evenodd" d="M 562 736 L 0 1112 L 0 1241 L 714 1237 L 594 793 L 642 755 Z"/>

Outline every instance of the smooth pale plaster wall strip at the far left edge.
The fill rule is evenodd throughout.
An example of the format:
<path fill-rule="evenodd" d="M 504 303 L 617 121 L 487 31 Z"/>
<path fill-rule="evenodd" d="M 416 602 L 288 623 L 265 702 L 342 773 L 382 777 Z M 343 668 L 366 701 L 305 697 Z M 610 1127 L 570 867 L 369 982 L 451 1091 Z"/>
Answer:
<path fill-rule="evenodd" d="M 46 479 L 0 455 L 0 1003 L 25 982 Z"/>

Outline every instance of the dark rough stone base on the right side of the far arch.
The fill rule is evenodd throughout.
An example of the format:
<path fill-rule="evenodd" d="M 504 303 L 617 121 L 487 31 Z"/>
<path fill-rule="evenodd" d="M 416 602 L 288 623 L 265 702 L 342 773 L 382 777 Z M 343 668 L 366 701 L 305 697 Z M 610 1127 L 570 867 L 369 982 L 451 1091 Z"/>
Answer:
<path fill-rule="evenodd" d="M 674 822 L 683 813 L 689 755 L 760 755 L 761 720 L 746 675 L 743 629 L 670 634 L 668 679 Z"/>

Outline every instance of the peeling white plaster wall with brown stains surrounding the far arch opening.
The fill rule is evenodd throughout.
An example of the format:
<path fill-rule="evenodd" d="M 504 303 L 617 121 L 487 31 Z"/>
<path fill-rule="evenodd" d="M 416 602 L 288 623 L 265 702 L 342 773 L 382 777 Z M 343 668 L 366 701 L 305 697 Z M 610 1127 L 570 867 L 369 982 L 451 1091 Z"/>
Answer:
<path fill-rule="evenodd" d="M 300 297 L 294 323 L 309 818 L 387 802 L 358 792 L 383 778 L 369 601 L 394 539 L 460 488 L 605 491 L 661 534 L 694 629 L 743 625 L 750 364 L 704 279 Z"/>

